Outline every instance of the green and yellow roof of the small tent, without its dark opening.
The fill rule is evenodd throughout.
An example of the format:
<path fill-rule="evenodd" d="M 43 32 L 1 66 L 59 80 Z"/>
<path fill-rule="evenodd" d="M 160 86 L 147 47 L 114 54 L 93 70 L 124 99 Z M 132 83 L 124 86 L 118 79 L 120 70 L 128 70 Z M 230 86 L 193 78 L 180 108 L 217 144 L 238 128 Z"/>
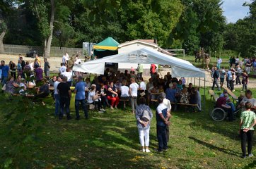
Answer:
<path fill-rule="evenodd" d="M 95 44 L 93 46 L 93 49 L 116 51 L 118 45 L 119 43 L 115 39 L 113 39 L 112 37 L 107 37 L 102 42 Z"/>

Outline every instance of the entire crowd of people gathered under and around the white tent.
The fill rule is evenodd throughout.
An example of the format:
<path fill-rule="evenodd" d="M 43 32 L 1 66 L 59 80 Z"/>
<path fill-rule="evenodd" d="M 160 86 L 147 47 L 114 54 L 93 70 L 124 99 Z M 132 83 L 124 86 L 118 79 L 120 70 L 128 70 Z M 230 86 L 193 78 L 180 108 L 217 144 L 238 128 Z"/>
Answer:
<path fill-rule="evenodd" d="M 115 109 L 119 107 L 120 100 L 130 101 L 132 112 L 136 117 L 137 127 L 139 131 L 139 142 L 141 144 L 141 151 L 150 152 L 149 150 L 149 132 L 151 119 L 153 113 L 149 105 L 151 101 L 157 101 L 156 108 L 156 125 L 158 138 L 158 151 L 163 152 L 168 149 L 169 139 L 169 125 L 171 111 L 175 111 L 177 103 L 189 105 L 197 104 L 197 108 L 201 111 L 201 95 L 198 87 L 193 87 L 190 83 L 186 86 L 186 80 L 181 77 L 172 77 L 168 72 L 164 77 L 160 77 L 156 72 L 156 65 L 151 64 L 151 77 L 149 82 L 145 82 L 143 78 L 143 65 L 138 65 L 135 73 L 134 68 L 124 70 L 105 69 L 104 75 L 95 76 L 91 82 L 90 78 L 83 77 L 83 73 L 73 72 L 72 66 L 81 63 L 78 54 L 69 58 L 68 54 L 62 57 L 59 74 L 50 77 L 50 63 L 47 58 L 44 59 L 44 70 L 42 70 L 42 63 L 38 56 L 35 61 L 23 61 L 23 57 L 19 56 L 17 65 L 10 61 L 6 65 L 5 61 L 1 61 L 0 69 L 2 89 L 9 94 L 26 94 L 30 88 L 38 87 L 35 98 L 43 98 L 52 93 L 55 103 L 54 115 L 62 120 L 66 115 L 67 120 L 71 119 L 70 104 L 71 91 L 74 90 L 75 95 L 75 111 L 76 120 L 80 120 L 79 109 L 82 108 L 84 117 L 88 119 L 88 110 L 97 110 L 98 113 L 104 113 L 107 107 Z M 220 59 L 220 58 L 219 58 Z M 219 61 L 219 60 L 218 60 Z M 250 61 L 247 61 L 247 63 Z M 254 63 L 255 61 L 253 61 Z M 246 64 L 247 64 L 246 63 Z M 232 65 L 233 66 L 233 65 Z M 240 102 L 237 107 L 228 99 L 228 94 L 223 91 L 222 96 L 217 101 L 217 106 L 225 108 L 228 111 L 228 117 L 233 120 L 233 112 L 236 108 L 256 108 L 256 100 L 252 98 L 252 92 L 247 89 L 248 74 L 240 68 L 239 62 L 235 68 L 231 68 L 226 72 L 221 68 L 221 61 L 218 62 L 217 67 L 212 70 L 212 77 L 214 78 L 214 85 L 221 89 L 223 81 L 226 77 L 228 88 L 233 90 L 233 85 L 243 83 L 245 89 L 245 96 L 241 94 Z M 16 71 L 17 70 L 17 71 Z M 249 70 L 247 68 L 247 70 Z M 250 70 L 249 70 L 250 71 Z M 17 74 L 16 74 L 17 73 Z M 45 73 L 45 75 L 43 75 Z M 240 81 L 242 78 L 242 82 Z M 218 80 L 221 79 L 221 86 Z M 72 88 L 72 86 L 74 87 Z M 50 87 L 51 91 L 50 92 Z M 250 105 L 248 104 L 250 102 Z M 172 109 L 173 105 L 173 109 Z M 190 110 L 190 109 L 187 109 Z M 245 111 L 244 111 L 245 112 Z M 241 130 L 240 132 L 247 132 L 245 130 L 252 130 L 253 125 L 245 120 L 248 113 L 241 115 Z M 250 113 L 249 113 L 250 114 Z M 255 119 L 255 118 L 250 118 Z M 250 125 L 250 126 L 248 126 Z M 248 128 L 249 127 L 249 128 Z M 243 131 L 242 131 L 243 130 Z M 249 132 L 248 132 L 249 133 Z M 251 133 L 251 131 L 250 131 Z M 243 134 L 243 153 L 245 145 L 245 137 L 252 137 L 252 134 Z M 251 147 L 251 143 L 250 147 Z M 251 150 L 251 148 L 250 148 Z M 249 150 L 248 150 L 249 151 Z M 249 152 L 249 154 L 251 151 Z M 252 155 L 250 155 L 252 156 Z"/>

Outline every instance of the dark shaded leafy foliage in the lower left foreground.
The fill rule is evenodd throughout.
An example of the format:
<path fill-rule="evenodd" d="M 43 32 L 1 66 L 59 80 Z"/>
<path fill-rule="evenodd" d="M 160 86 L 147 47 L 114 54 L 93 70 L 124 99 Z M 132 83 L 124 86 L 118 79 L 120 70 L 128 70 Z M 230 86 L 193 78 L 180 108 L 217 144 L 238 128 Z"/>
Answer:
<path fill-rule="evenodd" d="M 38 142 L 42 124 L 45 124 L 45 106 L 33 103 L 25 96 L 8 96 L 1 94 L 1 123 L 4 127 L 2 138 L 10 144 L 1 147 L 1 168 L 32 168 L 37 151 L 33 144 Z M 25 159 L 25 160 L 24 160 Z"/>

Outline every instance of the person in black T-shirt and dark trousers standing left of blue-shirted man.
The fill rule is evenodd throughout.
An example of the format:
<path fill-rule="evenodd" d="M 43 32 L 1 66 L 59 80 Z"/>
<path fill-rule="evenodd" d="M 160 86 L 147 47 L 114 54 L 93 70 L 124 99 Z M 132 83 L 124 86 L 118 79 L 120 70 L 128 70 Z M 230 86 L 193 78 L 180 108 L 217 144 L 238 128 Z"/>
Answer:
<path fill-rule="evenodd" d="M 66 81 L 67 81 L 67 77 L 64 76 L 62 78 L 62 82 L 59 83 L 57 86 L 58 93 L 59 93 L 59 108 L 60 108 L 59 120 L 62 120 L 63 118 L 64 109 L 66 110 L 66 119 L 67 120 L 71 119 L 70 110 L 69 110 L 70 99 L 71 99 L 71 89 L 69 87 L 69 84 Z"/>

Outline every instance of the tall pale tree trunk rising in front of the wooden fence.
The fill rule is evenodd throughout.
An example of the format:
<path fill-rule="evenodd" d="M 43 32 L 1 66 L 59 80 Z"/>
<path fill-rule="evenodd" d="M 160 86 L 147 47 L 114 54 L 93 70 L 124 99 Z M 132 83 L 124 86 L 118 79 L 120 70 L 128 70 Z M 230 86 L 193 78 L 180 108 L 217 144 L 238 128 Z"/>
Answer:
<path fill-rule="evenodd" d="M 51 19 L 50 19 L 50 36 L 48 39 L 45 39 L 45 58 L 50 58 L 51 45 L 52 45 L 52 33 L 53 33 L 53 22 L 55 14 L 55 5 L 54 0 L 51 0 Z"/>

